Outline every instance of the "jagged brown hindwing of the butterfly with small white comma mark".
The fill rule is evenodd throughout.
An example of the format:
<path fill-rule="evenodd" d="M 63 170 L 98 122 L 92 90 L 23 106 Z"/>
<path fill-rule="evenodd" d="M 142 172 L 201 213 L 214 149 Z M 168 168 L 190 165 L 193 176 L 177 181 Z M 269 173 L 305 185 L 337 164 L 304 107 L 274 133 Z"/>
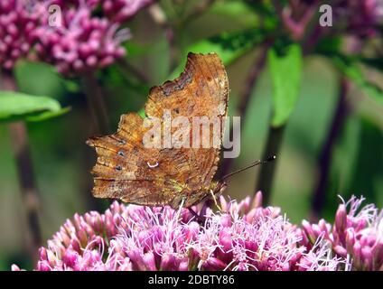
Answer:
<path fill-rule="evenodd" d="M 173 180 L 187 178 L 189 163 L 180 152 L 145 148 L 144 134 L 143 118 L 127 114 L 121 117 L 116 134 L 88 140 L 98 154 L 92 170 L 95 197 L 145 205 L 173 200 L 173 191 L 178 189 Z M 159 164 L 151 168 L 148 163 Z"/>

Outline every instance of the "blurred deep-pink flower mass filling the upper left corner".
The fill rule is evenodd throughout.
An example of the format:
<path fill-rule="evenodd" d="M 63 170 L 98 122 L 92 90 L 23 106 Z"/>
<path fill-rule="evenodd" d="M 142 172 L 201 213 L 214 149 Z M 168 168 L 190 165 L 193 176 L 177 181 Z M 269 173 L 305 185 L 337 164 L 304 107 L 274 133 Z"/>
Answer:
<path fill-rule="evenodd" d="M 36 51 L 40 61 L 66 75 L 103 68 L 126 53 L 121 43 L 129 32 L 120 29 L 122 23 L 151 3 L 0 0 L 0 65 L 11 70 L 17 59 Z"/>

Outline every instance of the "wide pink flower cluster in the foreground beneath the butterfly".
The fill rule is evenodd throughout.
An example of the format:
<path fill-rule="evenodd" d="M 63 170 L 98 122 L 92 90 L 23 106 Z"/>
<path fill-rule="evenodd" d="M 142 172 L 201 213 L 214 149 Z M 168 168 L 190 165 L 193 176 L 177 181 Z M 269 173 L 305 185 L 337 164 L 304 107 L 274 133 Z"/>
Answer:
<path fill-rule="evenodd" d="M 220 199 L 203 221 L 186 209 L 115 201 L 104 213 L 67 220 L 36 270 L 378 270 L 383 261 L 381 213 L 361 200 L 341 204 L 333 226 L 291 224 L 262 195 Z M 350 206 L 347 213 L 345 208 Z M 201 214 L 201 210 L 193 208 Z M 13 266 L 13 270 L 20 270 Z"/>

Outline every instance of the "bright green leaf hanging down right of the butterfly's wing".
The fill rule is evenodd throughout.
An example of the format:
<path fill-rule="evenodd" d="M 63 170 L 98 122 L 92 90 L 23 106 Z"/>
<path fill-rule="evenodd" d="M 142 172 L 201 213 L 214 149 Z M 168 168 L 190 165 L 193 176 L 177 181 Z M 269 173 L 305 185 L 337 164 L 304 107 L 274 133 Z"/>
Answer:
<path fill-rule="evenodd" d="M 275 48 L 268 53 L 268 66 L 273 83 L 271 125 L 274 127 L 285 125 L 294 111 L 301 84 L 302 58 L 298 44 L 291 44 L 283 55 L 278 55 Z"/>

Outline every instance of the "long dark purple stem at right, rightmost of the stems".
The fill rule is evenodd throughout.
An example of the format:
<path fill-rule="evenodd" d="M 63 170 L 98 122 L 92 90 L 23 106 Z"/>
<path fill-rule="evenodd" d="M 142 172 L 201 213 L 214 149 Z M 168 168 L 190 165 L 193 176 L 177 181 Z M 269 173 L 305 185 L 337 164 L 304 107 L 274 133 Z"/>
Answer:
<path fill-rule="evenodd" d="M 329 179 L 330 167 L 332 162 L 332 153 L 335 142 L 341 133 L 341 128 L 347 116 L 349 106 L 347 103 L 347 93 L 349 82 L 341 76 L 338 104 L 332 117 L 332 125 L 322 146 L 322 152 L 319 157 L 319 168 L 316 187 L 313 191 L 312 216 L 317 218 L 321 212 L 326 199 L 326 185 Z"/>

